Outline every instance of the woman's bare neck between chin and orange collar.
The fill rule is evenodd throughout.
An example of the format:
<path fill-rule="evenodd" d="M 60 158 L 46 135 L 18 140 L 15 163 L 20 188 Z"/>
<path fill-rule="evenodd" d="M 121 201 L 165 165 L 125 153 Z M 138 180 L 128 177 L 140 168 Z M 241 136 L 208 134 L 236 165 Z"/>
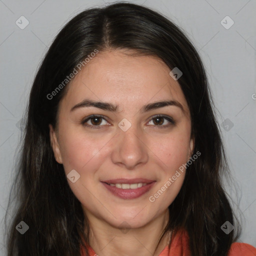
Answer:
<path fill-rule="evenodd" d="M 158 256 L 169 243 L 168 234 L 159 242 L 168 222 L 168 209 L 143 227 L 131 229 L 113 227 L 92 215 L 87 217 L 93 223 L 90 225 L 89 244 L 100 256 Z"/>

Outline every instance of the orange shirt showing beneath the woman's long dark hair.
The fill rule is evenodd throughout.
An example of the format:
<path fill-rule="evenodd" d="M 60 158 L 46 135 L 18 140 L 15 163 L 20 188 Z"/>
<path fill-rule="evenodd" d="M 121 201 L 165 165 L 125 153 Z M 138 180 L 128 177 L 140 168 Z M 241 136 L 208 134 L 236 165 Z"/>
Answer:
<path fill-rule="evenodd" d="M 81 248 L 81 256 L 85 256 L 85 252 Z M 89 256 L 100 256 L 89 247 Z M 188 246 L 188 234 L 186 231 L 179 231 L 172 238 L 170 249 L 168 245 L 161 251 L 159 256 L 190 256 Z M 228 256 L 256 256 L 256 248 L 248 243 L 233 242 L 228 252 Z"/>

